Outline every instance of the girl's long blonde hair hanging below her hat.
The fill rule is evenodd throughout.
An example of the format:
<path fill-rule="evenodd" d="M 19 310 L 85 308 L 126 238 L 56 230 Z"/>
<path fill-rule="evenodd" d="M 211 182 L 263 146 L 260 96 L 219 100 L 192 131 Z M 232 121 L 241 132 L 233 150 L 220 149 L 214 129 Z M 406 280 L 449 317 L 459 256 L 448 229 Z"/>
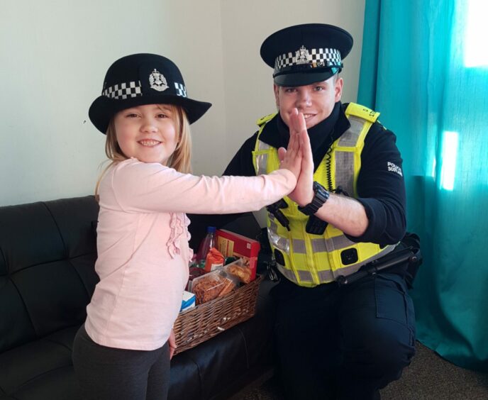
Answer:
<path fill-rule="evenodd" d="M 167 167 L 174 168 L 174 170 L 177 170 L 178 172 L 189 174 L 192 172 L 192 137 L 190 135 L 190 124 L 188 122 L 187 113 L 182 107 L 174 106 L 173 104 L 167 104 L 167 106 L 170 107 L 172 115 L 174 116 L 174 126 L 178 133 L 178 142 L 173 154 L 167 161 Z M 106 131 L 105 154 L 111 162 L 104 168 L 99 179 L 96 181 L 96 199 L 98 199 L 101 179 L 104 177 L 107 170 L 109 170 L 112 165 L 128 159 L 118 145 L 113 118 Z"/>

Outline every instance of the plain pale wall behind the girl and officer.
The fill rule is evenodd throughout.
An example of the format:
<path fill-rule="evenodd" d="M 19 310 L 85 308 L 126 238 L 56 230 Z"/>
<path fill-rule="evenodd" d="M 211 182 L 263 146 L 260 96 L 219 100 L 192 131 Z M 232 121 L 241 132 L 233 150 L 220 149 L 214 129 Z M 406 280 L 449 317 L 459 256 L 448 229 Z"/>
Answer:
<path fill-rule="evenodd" d="M 294 23 L 335 23 L 355 49 L 343 74 L 357 93 L 364 0 L 2 0 L 0 206 L 91 194 L 105 159 L 88 108 L 107 67 L 133 52 L 170 57 L 189 96 L 214 106 L 192 126 L 194 171 L 220 174 L 273 110 L 262 40 Z"/>

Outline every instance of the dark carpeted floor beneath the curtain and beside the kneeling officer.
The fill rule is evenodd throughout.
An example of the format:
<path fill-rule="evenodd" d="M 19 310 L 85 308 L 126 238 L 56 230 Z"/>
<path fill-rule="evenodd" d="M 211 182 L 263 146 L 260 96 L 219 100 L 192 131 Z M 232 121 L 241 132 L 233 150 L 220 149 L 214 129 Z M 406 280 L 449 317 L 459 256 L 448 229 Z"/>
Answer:
<path fill-rule="evenodd" d="M 237 399 L 282 400 L 283 394 L 277 379 L 270 379 Z M 382 400 L 488 400 L 488 374 L 457 367 L 417 343 L 411 365 L 382 390 Z"/>

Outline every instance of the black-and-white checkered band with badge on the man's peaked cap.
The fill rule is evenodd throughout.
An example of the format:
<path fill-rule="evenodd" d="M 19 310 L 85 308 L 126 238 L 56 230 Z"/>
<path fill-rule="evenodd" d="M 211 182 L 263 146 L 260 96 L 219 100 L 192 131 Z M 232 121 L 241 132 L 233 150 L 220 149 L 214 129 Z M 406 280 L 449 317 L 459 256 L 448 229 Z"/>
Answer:
<path fill-rule="evenodd" d="M 307 65 L 309 68 L 341 67 L 340 51 L 337 49 L 301 48 L 296 52 L 279 55 L 275 61 L 275 74 L 289 70 L 296 65 Z"/>

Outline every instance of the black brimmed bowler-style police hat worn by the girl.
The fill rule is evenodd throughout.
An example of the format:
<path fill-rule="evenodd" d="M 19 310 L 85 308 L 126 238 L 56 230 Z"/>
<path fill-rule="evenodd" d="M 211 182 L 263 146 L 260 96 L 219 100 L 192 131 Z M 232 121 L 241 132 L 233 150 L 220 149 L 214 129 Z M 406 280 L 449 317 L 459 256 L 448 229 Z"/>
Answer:
<path fill-rule="evenodd" d="M 145 104 L 174 104 L 194 123 L 211 107 L 187 96 L 187 87 L 178 67 L 162 55 L 133 54 L 113 62 L 104 79 L 101 96 L 91 104 L 88 115 L 101 133 L 111 118 L 123 109 Z"/>

